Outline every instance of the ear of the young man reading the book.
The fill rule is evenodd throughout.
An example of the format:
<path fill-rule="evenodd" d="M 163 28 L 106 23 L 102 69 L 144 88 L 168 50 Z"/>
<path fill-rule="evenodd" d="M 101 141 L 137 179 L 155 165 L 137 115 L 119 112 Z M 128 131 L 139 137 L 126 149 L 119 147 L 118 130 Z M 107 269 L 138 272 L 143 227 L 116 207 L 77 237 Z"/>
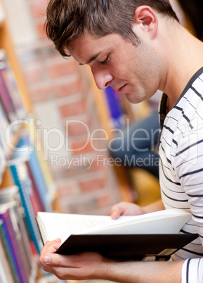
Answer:
<path fill-rule="evenodd" d="M 149 32 L 152 38 L 156 36 L 158 18 L 150 6 L 139 6 L 136 8 L 134 20 L 136 24 L 143 27 L 145 32 Z"/>

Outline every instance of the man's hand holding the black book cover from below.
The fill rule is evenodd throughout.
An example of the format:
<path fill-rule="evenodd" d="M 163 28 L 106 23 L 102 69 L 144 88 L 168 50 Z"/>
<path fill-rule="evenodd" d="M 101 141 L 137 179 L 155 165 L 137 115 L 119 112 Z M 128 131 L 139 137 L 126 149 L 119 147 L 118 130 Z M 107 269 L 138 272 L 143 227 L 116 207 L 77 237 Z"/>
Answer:
<path fill-rule="evenodd" d="M 47 241 L 39 258 L 43 269 L 62 280 L 84 280 L 103 277 L 107 259 L 98 253 L 78 253 L 63 256 L 55 253 L 61 245 L 60 239 Z"/>

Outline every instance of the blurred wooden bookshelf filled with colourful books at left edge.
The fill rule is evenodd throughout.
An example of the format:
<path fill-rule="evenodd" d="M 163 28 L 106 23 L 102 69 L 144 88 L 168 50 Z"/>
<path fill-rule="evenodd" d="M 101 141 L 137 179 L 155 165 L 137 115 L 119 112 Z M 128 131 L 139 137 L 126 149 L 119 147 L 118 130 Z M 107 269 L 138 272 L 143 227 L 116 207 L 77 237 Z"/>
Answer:
<path fill-rule="evenodd" d="M 30 134 L 32 104 L 1 7 L 0 38 L 0 282 L 34 283 L 45 277 L 35 217 L 52 211 L 55 188 Z"/>

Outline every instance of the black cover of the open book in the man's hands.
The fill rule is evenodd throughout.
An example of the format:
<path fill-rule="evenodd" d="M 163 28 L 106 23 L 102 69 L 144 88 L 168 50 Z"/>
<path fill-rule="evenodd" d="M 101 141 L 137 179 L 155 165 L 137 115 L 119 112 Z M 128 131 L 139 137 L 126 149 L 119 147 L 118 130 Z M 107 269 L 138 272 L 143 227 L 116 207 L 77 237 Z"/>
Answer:
<path fill-rule="evenodd" d="M 148 256 L 167 260 L 197 237 L 198 234 L 74 234 L 56 253 L 71 255 L 96 251 L 120 260 L 142 260 Z"/>

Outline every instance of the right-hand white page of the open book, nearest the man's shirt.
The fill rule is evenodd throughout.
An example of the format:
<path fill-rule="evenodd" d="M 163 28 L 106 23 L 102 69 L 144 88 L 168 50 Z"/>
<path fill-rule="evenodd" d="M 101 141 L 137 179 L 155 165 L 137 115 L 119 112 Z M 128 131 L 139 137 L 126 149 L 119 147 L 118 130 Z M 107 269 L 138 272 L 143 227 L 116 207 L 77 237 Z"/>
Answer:
<path fill-rule="evenodd" d="M 190 218 L 188 211 L 167 209 L 143 215 L 120 216 L 117 220 L 86 228 L 77 234 L 176 234 Z"/>

